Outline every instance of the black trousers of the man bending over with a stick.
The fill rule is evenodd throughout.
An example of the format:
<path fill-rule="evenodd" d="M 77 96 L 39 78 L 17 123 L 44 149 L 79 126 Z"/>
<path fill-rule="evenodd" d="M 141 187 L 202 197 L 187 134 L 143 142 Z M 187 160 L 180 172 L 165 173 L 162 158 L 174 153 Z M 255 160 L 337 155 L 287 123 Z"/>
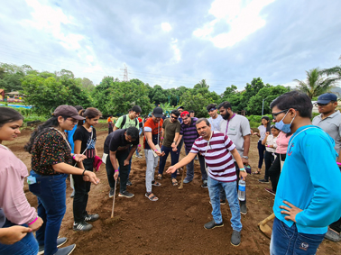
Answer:
<path fill-rule="evenodd" d="M 116 159 L 118 160 L 118 166 L 120 167 L 120 192 L 126 190 L 126 181 L 129 178 L 129 165 L 124 166 L 124 160 L 128 157 L 129 150 L 117 150 Z M 115 169 L 110 160 L 110 154 L 106 157 L 106 176 L 111 188 L 115 187 Z"/>

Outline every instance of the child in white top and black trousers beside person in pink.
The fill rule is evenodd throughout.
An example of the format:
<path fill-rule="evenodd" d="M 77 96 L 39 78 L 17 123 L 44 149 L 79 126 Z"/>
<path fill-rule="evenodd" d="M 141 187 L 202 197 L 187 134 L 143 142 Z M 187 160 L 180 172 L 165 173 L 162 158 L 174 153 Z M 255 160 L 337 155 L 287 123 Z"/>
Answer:
<path fill-rule="evenodd" d="M 269 168 L 272 166 L 272 162 L 274 159 L 274 153 L 276 152 L 277 144 L 277 136 L 280 133 L 280 130 L 275 127 L 275 125 L 271 126 L 272 134 L 269 132 L 265 133 L 265 138 L 262 141 L 262 144 L 265 146 L 265 175 L 263 179 L 260 179 L 261 183 L 269 183 Z"/>

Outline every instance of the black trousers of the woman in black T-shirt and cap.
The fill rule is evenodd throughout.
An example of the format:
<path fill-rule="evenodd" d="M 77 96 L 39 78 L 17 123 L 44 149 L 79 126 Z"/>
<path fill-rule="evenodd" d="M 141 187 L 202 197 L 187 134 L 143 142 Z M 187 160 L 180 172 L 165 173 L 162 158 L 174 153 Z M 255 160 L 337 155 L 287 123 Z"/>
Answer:
<path fill-rule="evenodd" d="M 87 168 L 88 171 L 93 171 L 93 168 Z M 84 221 L 88 215 L 88 192 L 90 191 L 91 182 L 83 180 L 82 176 L 72 175 L 75 182 L 75 196 L 73 197 L 73 218 L 75 223 Z"/>

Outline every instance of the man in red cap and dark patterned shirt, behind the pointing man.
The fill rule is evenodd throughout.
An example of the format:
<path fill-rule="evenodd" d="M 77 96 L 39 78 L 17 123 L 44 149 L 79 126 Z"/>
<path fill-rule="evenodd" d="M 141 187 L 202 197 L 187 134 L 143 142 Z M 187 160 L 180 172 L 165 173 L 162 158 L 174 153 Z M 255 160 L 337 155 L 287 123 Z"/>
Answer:
<path fill-rule="evenodd" d="M 198 138 L 198 132 L 197 132 L 197 127 L 196 127 L 198 118 L 191 118 L 189 116 L 189 112 L 187 111 L 182 112 L 180 116 L 183 122 L 181 123 L 180 136 L 176 145 L 178 145 L 181 139 L 183 138 L 183 141 L 185 142 L 186 155 L 188 155 L 190 149 L 192 148 L 194 141 L 196 141 L 196 139 Z M 203 182 L 201 187 L 207 187 L 207 172 L 205 168 L 205 159 L 201 155 L 198 155 L 198 159 L 200 163 L 201 178 Z M 189 183 L 193 180 L 193 178 L 194 178 L 194 159 L 191 160 L 189 164 L 187 165 L 187 174 L 186 174 L 186 178 L 183 180 L 183 183 Z"/>

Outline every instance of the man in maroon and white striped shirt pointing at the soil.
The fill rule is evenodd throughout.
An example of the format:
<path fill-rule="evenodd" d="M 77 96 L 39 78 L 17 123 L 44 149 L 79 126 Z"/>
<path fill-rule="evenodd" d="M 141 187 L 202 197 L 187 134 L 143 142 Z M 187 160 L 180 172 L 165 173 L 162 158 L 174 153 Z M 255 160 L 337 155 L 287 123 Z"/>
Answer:
<path fill-rule="evenodd" d="M 181 159 L 179 163 L 168 168 L 167 173 L 173 173 L 177 168 L 188 164 L 199 152 L 204 156 L 208 171 L 208 192 L 212 204 L 213 220 L 204 225 L 205 229 L 224 226 L 220 211 L 220 188 L 223 187 L 226 199 L 231 210 L 232 236 L 231 244 L 240 244 L 240 232 L 242 230 L 240 207 L 236 189 L 235 162 L 240 170 L 240 178 L 245 180 L 247 174 L 244 169 L 242 158 L 235 149 L 235 144 L 222 132 L 212 132 L 211 125 L 206 118 L 198 119 L 197 131 L 200 135 L 194 141 L 189 155 Z"/>

